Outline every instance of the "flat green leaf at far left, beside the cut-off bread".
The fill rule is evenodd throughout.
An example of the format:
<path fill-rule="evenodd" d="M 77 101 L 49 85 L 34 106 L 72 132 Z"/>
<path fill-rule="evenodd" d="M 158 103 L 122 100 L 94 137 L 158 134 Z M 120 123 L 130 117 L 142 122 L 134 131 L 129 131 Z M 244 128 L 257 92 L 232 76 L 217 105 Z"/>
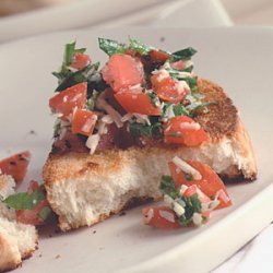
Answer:
<path fill-rule="evenodd" d="M 40 191 L 19 192 L 9 195 L 2 202 L 14 210 L 33 210 L 44 199 L 45 194 Z"/>

